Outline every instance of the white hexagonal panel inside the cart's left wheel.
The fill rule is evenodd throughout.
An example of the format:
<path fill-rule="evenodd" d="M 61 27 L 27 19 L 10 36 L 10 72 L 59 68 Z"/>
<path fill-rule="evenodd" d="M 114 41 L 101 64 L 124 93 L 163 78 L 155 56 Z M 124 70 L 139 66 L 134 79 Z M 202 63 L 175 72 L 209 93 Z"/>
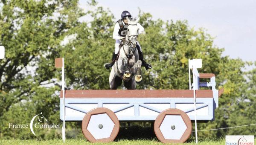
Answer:
<path fill-rule="evenodd" d="M 107 113 L 92 115 L 87 130 L 95 139 L 110 137 L 114 128 L 114 122 Z"/>

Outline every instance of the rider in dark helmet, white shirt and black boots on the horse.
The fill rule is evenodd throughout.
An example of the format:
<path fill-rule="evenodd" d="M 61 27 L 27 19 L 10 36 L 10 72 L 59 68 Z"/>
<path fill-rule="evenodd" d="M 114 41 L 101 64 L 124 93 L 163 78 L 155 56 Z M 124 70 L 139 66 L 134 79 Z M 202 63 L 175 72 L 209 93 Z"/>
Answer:
<path fill-rule="evenodd" d="M 122 18 L 116 22 L 116 25 L 114 27 L 113 39 L 116 40 L 116 44 L 115 44 L 115 51 L 113 52 L 113 55 L 112 55 L 112 61 L 111 61 L 111 63 L 104 64 L 104 67 L 107 70 L 109 68 L 111 68 L 113 66 L 113 64 L 115 63 L 116 56 L 119 52 L 119 44 L 120 44 L 121 40 L 123 38 L 125 38 L 126 31 L 127 31 L 128 20 L 126 20 L 126 17 L 130 18 L 131 14 L 128 11 L 124 11 L 124 12 L 122 12 L 121 17 Z M 141 34 L 144 31 L 144 28 L 139 23 L 137 23 L 137 26 L 138 26 L 138 34 Z M 151 69 L 152 68 L 151 65 L 146 63 L 143 60 L 143 53 L 142 53 L 142 49 L 140 47 L 139 42 L 137 42 L 136 47 L 138 49 L 139 59 L 142 61 L 142 67 L 145 67 L 146 70 Z"/>

